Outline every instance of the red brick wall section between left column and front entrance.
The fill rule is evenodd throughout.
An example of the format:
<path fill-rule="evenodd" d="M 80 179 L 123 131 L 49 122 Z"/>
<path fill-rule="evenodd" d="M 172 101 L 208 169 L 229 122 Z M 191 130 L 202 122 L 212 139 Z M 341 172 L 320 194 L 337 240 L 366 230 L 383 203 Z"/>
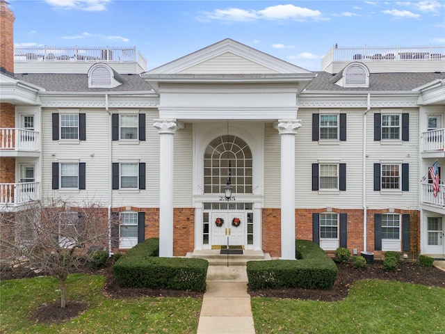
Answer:
<path fill-rule="evenodd" d="M 173 209 L 173 256 L 185 256 L 195 248 L 195 209 Z"/>

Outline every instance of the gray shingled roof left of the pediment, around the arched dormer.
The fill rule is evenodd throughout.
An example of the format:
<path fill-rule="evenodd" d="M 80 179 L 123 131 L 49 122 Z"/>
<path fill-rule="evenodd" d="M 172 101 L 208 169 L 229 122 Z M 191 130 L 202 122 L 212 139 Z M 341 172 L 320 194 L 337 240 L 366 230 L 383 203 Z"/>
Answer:
<path fill-rule="evenodd" d="M 31 82 L 47 92 L 137 92 L 152 90 L 139 74 L 120 74 L 124 84 L 115 88 L 88 88 L 87 74 L 16 74 L 19 80 Z"/>

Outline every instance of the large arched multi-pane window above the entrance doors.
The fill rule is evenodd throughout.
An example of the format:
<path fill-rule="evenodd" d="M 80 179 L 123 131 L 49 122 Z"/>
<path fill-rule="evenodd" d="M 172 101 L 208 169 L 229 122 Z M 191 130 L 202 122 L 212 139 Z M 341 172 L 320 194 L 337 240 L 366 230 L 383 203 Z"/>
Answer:
<path fill-rule="evenodd" d="M 252 152 L 243 139 L 219 136 L 204 153 L 204 193 L 223 193 L 230 182 L 234 193 L 252 193 Z"/>

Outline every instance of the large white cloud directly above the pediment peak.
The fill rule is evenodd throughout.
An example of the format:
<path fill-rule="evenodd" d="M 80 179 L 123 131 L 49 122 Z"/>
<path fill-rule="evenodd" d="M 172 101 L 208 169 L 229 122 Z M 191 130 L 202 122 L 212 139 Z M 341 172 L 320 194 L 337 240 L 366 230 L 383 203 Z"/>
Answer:
<path fill-rule="evenodd" d="M 212 12 L 201 12 L 202 16 L 197 17 L 200 21 L 216 19 L 225 22 L 251 22 L 259 19 L 283 20 L 296 19 L 324 19 L 319 10 L 302 8 L 293 5 L 277 5 L 266 7 L 262 10 L 245 10 L 241 8 L 216 9 Z"/>

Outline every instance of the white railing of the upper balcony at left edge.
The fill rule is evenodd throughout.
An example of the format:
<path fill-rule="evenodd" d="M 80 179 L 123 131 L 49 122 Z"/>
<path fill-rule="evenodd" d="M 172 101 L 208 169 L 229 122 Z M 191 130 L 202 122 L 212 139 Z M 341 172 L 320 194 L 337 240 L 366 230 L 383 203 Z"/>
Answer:
<path fill-rule="evenodd" d="M 0 128 L 0 150 L 40 151 L 40 132 L 17 128 Z"/>

